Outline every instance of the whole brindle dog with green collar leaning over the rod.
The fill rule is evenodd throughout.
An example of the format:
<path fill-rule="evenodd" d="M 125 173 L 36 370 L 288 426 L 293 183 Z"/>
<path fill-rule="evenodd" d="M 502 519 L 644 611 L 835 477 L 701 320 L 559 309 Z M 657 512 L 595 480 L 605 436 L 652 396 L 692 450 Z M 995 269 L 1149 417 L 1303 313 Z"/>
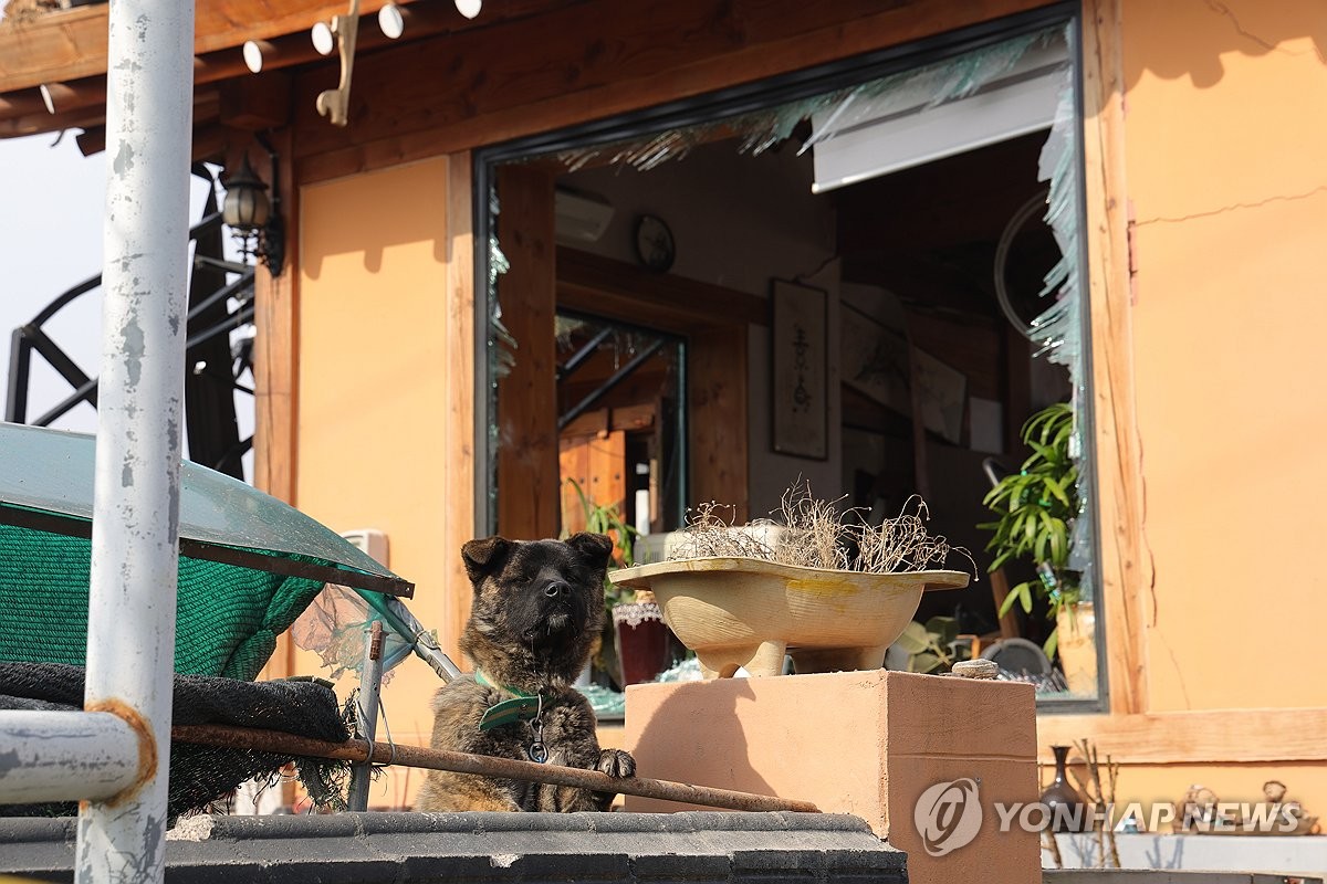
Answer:
<path fill-rule="evenodd" d="M 490 537 L 462 547 L 475 594 L 460 649 L 476 672 L 434 696 L 434 749 L 547 761 L 618 778 L 636 773 L 628 753 L 600 750 L 589 701 L 571 687 L 604 622 L 612 550 L 602 534 L 585 533 L 567 541 Z M 606 810 L 613 798 L 433 770 L 415 810 L 567 812 Z"/>

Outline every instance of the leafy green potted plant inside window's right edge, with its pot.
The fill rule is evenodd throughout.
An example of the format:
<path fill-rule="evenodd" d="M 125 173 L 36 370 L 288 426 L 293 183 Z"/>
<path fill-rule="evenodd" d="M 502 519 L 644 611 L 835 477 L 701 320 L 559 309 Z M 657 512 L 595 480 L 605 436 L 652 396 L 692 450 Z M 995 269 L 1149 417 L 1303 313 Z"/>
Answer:
<path fill-rule="evenodd" d="M 1022 439 L 1032 453 L 1016 473 L 999 480 L 986 494 L 983 504 L 998 518 L 979 527 L 993 531 L 986 545 L 995 553 L 990 571 L 1011 559 L 1026 559 L 1036 567 L 1036 578 L 1010 588 L 1001 615 L 1015 602 L 1031 614 L 1034 594 L 1044 598 L 1048 616 L 1056 622 L 1046 640 L 1046 656 L 1059 651 L 1070 691 L 1085 693 L 1096 689 L 1096 649 L 1092 607 L 1080 598 L 1082 575 L 1070 569 L 1070 538 L 1080 502 L 1072 437 L 1074 410 L 1066 403 L 1028 417 Z"/>

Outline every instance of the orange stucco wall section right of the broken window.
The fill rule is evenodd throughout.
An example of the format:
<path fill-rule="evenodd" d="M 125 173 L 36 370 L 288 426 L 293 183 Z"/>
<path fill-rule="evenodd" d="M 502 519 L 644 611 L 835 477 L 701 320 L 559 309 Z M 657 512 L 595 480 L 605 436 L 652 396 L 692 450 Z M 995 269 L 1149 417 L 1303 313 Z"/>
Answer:
<path fill-rule="evenodd" d="M 1148 708 L 1323 706 L 1327 8 L 1123 12 Z"/>

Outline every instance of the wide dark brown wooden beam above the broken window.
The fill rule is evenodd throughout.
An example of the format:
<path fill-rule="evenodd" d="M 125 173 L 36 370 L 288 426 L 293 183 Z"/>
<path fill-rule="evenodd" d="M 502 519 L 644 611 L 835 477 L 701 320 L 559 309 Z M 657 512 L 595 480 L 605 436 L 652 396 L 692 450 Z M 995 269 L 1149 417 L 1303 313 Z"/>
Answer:
<path fill-rule="evenodd" d="M 356 62 L 374 95 L 333 131 L 312 111 L 328 73 L 296 85 L 301 179 L 500 143 L 963 28 L 1042 0 L 588 0 Z M 580 34 L 593 33 L 580 48 Z M 563 34 L 564 38 L 557 38 Z M 308 111 L 304 109 L 308 107 Z M 321 123 L 321 125 L 320 125 Z"/>

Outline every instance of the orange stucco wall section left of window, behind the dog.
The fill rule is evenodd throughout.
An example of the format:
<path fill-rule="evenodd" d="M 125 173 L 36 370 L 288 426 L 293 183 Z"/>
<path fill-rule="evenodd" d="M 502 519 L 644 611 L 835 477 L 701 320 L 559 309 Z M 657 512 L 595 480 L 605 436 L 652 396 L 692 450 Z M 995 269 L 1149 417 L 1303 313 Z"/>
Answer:
<path fill-rule="evenodd" d="M 446 182 L 438 159 L 300 192 L 296 504 L 336 530 L 385 531 L 389 566 L 417 583 L 409 607 L 429 627 L 443 616 L 445 557 L 458 554 L 438 549 L 449 459 L 430 444 L 443 431 L 430 402 L 442 400 L 453 345 Z M 301 652 L 296 672 L 326 671 Z M 342 698 L 354 684 L 344 680 Z M 415 659 L 395 671 L 384 688 L 395 740 L 427 741 L 438 684 Z M 374 786 L 372 801 L 402 803 L 403 779 Z"/>

